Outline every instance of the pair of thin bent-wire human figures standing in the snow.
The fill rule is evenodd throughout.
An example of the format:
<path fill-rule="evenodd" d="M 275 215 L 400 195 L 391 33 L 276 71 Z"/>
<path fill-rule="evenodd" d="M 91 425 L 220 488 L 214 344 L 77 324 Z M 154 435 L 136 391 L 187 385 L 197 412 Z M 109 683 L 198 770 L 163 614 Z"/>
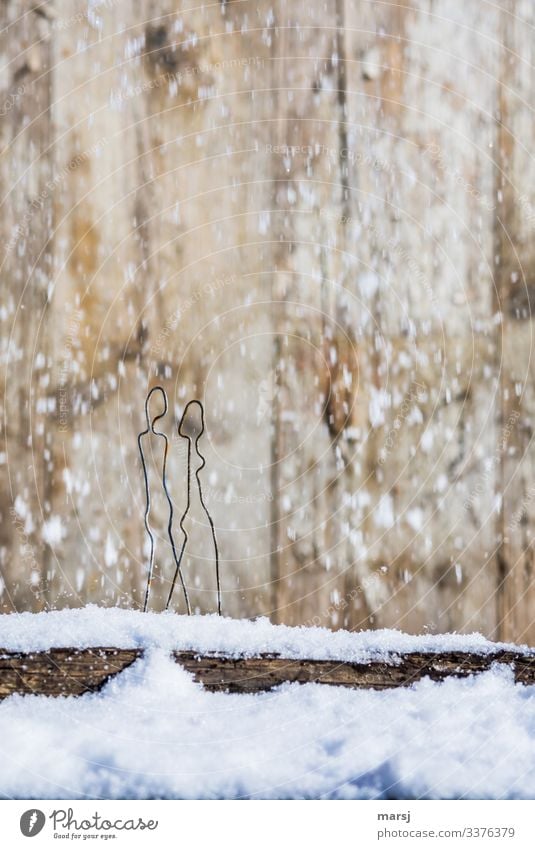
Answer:
<path fill-rule="evenodd" d="M 158 415 L 154 416 L 151 419 L 150 413 L 149 413 L 149 405 L 150 405 L 152 396 L 155 395 L 156 393 L 158 393 L 162 396 L 163 411 L 161 413 L 159 413 Z M 140 456 L 141 456 L 141 465 L 142 465 L 142 468 L 143 468 L 143 477 L 144 477 L 144 481 L 145 481 L 145 501 L 146 501 L 145 516 L 144 516 L 145 530 L 146 530 L 148 537 L 149 537 L 149 540 L 150 540 L 150 560 L 149 560 L 147 588 L 145 590 L 145 600 L 144 600 L 144 603 L 143 603 L 143 610 L 144 611 L 147 610 L 148 603 L 149 603 L 150 589 L 151 589 L 152 578 L 153 578 L 153 574 L 154 574 L 154 557 L 155 557 L 154 534 L 152 532 L 152 528 L 150 526 L 150 521 L 149 521 L 149 514 L 150 514 L 150 509 L 151 509 L 151 492 L 150 492 L 150 485 L 149 485 L 149 476 L 148 476 L 148 472 L 147 472 L 147 463 L 146 463 L 146 459 L 145 459 L 145 452 L 143 450 L 143 442 L 144 442 L 145 437 L 156 436 L 157 438 L 163 440 L 164 450 L 163 450 L 163 460 L 162 460 L 161 484 L 162 484 L 163 492 L 165 494 L 165 498 L 166 498 L 167 506 L 168 506 L 168 511 L 169 511 L 169 521 L 168 521 L 168 525 L 167 525 L 167 534 L 168 534 L 168 537 L 169 537 L 169 541 L 171 543 L 171 550 L 173 552 L 173 560 L 174 560 L 174 564 L 175 564 L 175 571 L 174 571 L 174 575 L 173 575 L 173 580 L 171 582 L 171 588 L 169 590 L 169 596 L 167 598 L 167 603 L 165 605 L 165 609 L 168 610 L 169 605 L 171 604 L 171 600 L 173 598 L 173 593 L 175 591 L 175 586 L 176 586 L 177 580 L 180 579 L 180 584 L 182 586 L 182 592 L 184 594 L 184 600 L 186 602 L 186 610 L 188 612 L 188 615 L 191 615 L 191 605 L 190 605 L 190 600 L 189 600 L 188 589 L 187 589 L 187 586 L 186 586 L 186 583 L 185 583 L 185 580 L 184 580 L 184 575 L 183 575 L 183 572 L 182 572 L 182 560 L 183 560 L 184 552 L 186 550 L 186 546 L 187 546 L 188 539 L 189 539 L 188 532 L 187 532 L 187 530 L 184 526 L 184 522 L 185 522 L 185 520 L 188 516 L 189 510 L 190 510 L 190 507 L 191 507 L 191 487 L 192 487 L 192 482 L 193 482 L 192 478 L 194 477 L 195 483 L 197 485 L 200 504 L 201 504 L 201 507 L 202 507 L 205 515 L 206 515 L 206 518 L 208 519 L 208 523 L 210 525 L 210 531 L 211 531 L 211 535 L 212 535 L 212 541 L 213 541 L 213 546 L 214 546 L 214 551 L 215 551 L 215 569 L 216 569 L 216 585 L 217 585 L 217 612 L 221 616 L 221 583 L 220 583 L 220 577 L 219 577 L 219 549 L 217 547 L 217 539 L 216 539 L 214 523 L 212 521 L 212 517 L 210 516 L 210 513 L 208 512 L 206 504 L 204 503 L 204 498 L 203 498 L 203 494 L 202 494 L 201 479 L 199 477 L 201 470 L 206 465 L 206 460 L 199 450 L 199 439 L 201 438 L 202 434 L 204 433 L 204 407 L 203 407 L 203 405 L 201 404 L 200 401 L 197 401 L 197 400 L 189 401 L 186 404 L 186 407 L 185 407 L 184 412 L 182 414 L 182 418 L 180 419 L 180 423 L 178 425 L 178 435 L 181 436 L 183 439 L 186 439 L 187 443 L 188 443 L 188 451 L 187 451 L 187 500 L 186 500 L 186 509 L 184 510 L 184 513 L 182 514 L 181 519 L 180 519 L 180 530 L 182 531 L 183 540 L 182 540 L 182 545 L 180 547 L 180 551 L 178 551 L 178 552 L 177 552 L 177 547 L 176 547 L 176 544 L 175 544 L 175 538 L 174 538 L 174 533 L 173 533 L 174 506 L 173 506 L 173 500 L 171 498 L 171 495 L 169 493 L 169 488 L 168 488 L 168 485 L 167 485 L 167 455 L 168 455 L 168 451 L 169 451 L 169 440 L 167 439 L 167 436 L 165 435 L 165 433 L 163 433 L 161 430 L 157 430 L 156 427 L 155 427 L 156 423 L 158 421 L 160 421 L 160 419 L 163 419 L 163 417 L 166 415 L 167 410 L 168 410 L 168 402 L 167 402 L 167 394 L 165 392 L 165 389 L 163 389 L 162 386 L 154 386 L 150 390 L 150 392 L 147 395 L 147 398 L 145 400 L 145 416 L 146 416 L 146 420 L 147 420 L 147 427 L 146 427 L 145 430 L 141 431 L 141 433 L 138 435 L 138 438 L 137 438 L 139 453 L 140 453 Z M 195 425 L 193 426 L 193 432 L 194 432 L 195 436 L 192 436 L 191 435 L 191 427 L 190 427 L 190 429 L 188 429 L 188 421 L 189 422 L 191 422 L 191 421 L 195 422 L 195 419 L 197 419 L 198 427 L 196 427 Z M 195 452 L 196 457 L 200 460 L 199 465 L 195 469 L 194 475 L 192 475 L 192 452 L 193 451 Z"/>

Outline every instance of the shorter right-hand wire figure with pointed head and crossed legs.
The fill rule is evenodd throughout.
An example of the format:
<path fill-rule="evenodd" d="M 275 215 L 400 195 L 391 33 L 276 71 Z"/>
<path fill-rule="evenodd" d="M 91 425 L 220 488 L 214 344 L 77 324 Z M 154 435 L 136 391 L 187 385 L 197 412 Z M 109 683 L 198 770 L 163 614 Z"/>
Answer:
<path fill-rule="evenodd" d="M 182 414 L 182 418 L 180 419 L 180 424 L 178 425 L 178 433 L 183 439 L 188 440 L 188 468 L 187 468 L 187 500 L 186 500 L 186 509 L 182 514 L 180 519 L 180 529 L 184 535 L 184 542 L 182 543 L 182 549 L 180 554 L 178 555 L 178 561 L 176 564 L 175 575 L 173 577 L 173 582 L 171 584 L 171 591 L 169 593 L 169 598 L 167 599 L 166 610 L 171 604 L 171 599 L 173 597 L 173 592 L 175 589 L 175 584 L 177 577 L 182 577 L 181 572 L 181 564 L 182 558 L 184 557 L 184 552 L 186 550 L 186 546 L 189 540 L 188 531 L 185 527 L 186 519 L 188 518 L 188 514 L 191 507 L 191 490 L 193 479 L 195 480 L 197 486 L 197 492 L 199 496 L 199 502 L 201 508 L 208 519 L 208 523 L 210 525 L 210 531 L 212 535 L 212 543 L 215 554 L 215 577 L 216 577 L 216 587 L 217 587 L 217 612 L 221 616 L 221 582 L 219 575 L 219 549 L 217 546 L 217 539 L 215 533 L 214 523 L 212 521 L 212 517 L 208 512 L 208 508 L 204 503 L 204 498 L 202 494 L 202 484 L 200 479 L 200 473 L 202 469 L 204 469 L 206 465 L 206 459 L 201 454 L 199 449 L 199 440 L 204 433 L 204 407 L 200 401 L 189 401 L 186 404 L 184 412 Z M 193 434 L 193 435 L 192 435 Z M 192 449 L 195 451 L 195 460 L 199 460 L 199 463 L 196 465 L 195 472 L 192 470 Z"/>

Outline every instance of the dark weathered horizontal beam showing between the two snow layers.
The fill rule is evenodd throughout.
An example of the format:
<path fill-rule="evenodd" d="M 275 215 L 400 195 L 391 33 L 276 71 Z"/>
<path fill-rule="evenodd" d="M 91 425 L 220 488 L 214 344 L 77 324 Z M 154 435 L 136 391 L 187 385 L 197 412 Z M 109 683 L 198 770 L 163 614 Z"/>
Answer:
<path fill-rule="evenodd" d="M 141 649 L 109 647 L 58 648 L 30 654 L 0 649 L 0 699 L 16 693 L 78 696 L 96 692 L 142 655 Z M 269 654 L 234 658 L 194 651 L 177 651 L 173 657 L 211 692 L 258 693 L 290 682 L 384 690 L 407 687 L 425 677 L 432 681 L 465 678 L 488 671 L 494 663 L 510 666 L 517 683 L 535 684 L 535 653 L 521 651 L 488 655 L 409 652 L 366 663 L 298 660 Z"/>

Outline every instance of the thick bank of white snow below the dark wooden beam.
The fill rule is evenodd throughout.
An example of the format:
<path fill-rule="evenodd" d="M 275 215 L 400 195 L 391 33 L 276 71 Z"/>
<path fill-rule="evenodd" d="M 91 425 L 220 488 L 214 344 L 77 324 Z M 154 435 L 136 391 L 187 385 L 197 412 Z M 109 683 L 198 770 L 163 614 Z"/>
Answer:
<path fill-rule="evenodd" d="M 208 693 L 160 649 L 79 698 L 0 703 L 4 798 L 535 798 L 535 687 Z"/>

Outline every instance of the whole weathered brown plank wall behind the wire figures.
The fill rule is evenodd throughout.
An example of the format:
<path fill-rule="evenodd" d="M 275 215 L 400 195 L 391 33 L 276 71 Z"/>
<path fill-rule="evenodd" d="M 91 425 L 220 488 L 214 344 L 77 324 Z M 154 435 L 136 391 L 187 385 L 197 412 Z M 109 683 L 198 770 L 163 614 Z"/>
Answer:
<path fill-rule="evenodd" d="M 2 610 L 139 603 L 161 382 L 228 614 L 532 642 L 533 4 L 0 15 Z"/>

